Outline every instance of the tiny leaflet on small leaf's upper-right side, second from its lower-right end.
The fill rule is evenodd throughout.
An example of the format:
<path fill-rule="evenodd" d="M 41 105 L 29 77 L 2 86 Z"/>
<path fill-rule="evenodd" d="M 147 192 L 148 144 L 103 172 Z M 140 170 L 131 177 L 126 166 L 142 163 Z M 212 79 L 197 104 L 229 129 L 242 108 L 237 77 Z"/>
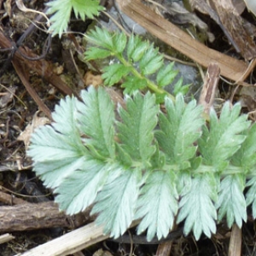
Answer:
<path fill-rule="evenodd" d="M 174 62 L 163 66 L 157 73 L 156 82 L 160 87 L 165 87 L 168 84 L 172 84 L 173 80 L 176 78 L 178 71 L 173 70 Z"/>

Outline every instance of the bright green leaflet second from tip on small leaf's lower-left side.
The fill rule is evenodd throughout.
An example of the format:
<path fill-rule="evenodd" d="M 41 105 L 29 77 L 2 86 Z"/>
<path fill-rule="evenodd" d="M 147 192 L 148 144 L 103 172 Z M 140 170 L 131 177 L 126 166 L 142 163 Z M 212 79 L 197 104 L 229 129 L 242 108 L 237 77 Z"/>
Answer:
<path fill-rule="evenodd" d="M 131 67 L 124 67 L 123 64 L 112 64 L 103 68 L 102 79 L 108 86 L 117 84 L 123 77 L 131 72 Z"/>

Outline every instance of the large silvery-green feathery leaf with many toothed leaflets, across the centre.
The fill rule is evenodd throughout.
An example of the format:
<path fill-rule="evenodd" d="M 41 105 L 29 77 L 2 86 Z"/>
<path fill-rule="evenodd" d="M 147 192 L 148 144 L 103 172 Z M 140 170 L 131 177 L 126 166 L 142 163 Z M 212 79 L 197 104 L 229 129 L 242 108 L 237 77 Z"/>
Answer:
<path fill-rule="evenodd" d="M 175 102 L 166 96 L 165 113 L 150 92 L 125 96 L 118 120 L 103 88 L 83 90 L 81 99 L 61 100 L 27 152 L 61 210 L 93 205 L 113 237 L 141 219 L 137 232 L 148 230 L 148 241 L 166 237 L 175 220 L 199 239 L 216 231 L 217 219 L 241 226 L 247 205 L 255 217 L 256 126 L 239 104 L 226 103 L 219 118 L 212 110 L 207 126 L 203 109 L 180 94 Z"/>

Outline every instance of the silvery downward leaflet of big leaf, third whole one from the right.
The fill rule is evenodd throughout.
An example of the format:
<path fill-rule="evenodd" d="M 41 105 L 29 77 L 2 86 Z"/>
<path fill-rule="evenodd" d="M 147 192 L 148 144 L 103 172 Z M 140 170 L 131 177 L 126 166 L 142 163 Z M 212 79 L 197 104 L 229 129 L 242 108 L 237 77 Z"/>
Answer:
<path fill-rule="evenodd" d="M 142 218 L 142 221 L 138 225 L 137 233 L 141 234 L 148 229 L 148 241 L 155 235 L 160 240 L 172 230 L 178 209 L 175 180 L 175 174 L 171 170 L 157 170 L 149 175 L 141 189 L 135 218 Z"/>

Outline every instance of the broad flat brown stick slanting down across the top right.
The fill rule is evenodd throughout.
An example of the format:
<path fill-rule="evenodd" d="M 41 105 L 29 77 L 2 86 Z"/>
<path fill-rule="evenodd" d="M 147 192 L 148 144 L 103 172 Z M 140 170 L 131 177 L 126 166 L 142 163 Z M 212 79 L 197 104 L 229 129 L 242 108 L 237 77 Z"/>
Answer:
<path fill-rule="evenodd" d="M 220 73 L 235 81 L 240 81 L 246 72 L 247 64 L 244 61 L 236 60 L 217 50 L 207 48 L 171 22 L 155 14 L 140 0 L 116 0 L 116 2 L 119 3 L 119 8 L 125 15 L 203 67 L 208 67 L 211 62 L 218 63 Z"/>

